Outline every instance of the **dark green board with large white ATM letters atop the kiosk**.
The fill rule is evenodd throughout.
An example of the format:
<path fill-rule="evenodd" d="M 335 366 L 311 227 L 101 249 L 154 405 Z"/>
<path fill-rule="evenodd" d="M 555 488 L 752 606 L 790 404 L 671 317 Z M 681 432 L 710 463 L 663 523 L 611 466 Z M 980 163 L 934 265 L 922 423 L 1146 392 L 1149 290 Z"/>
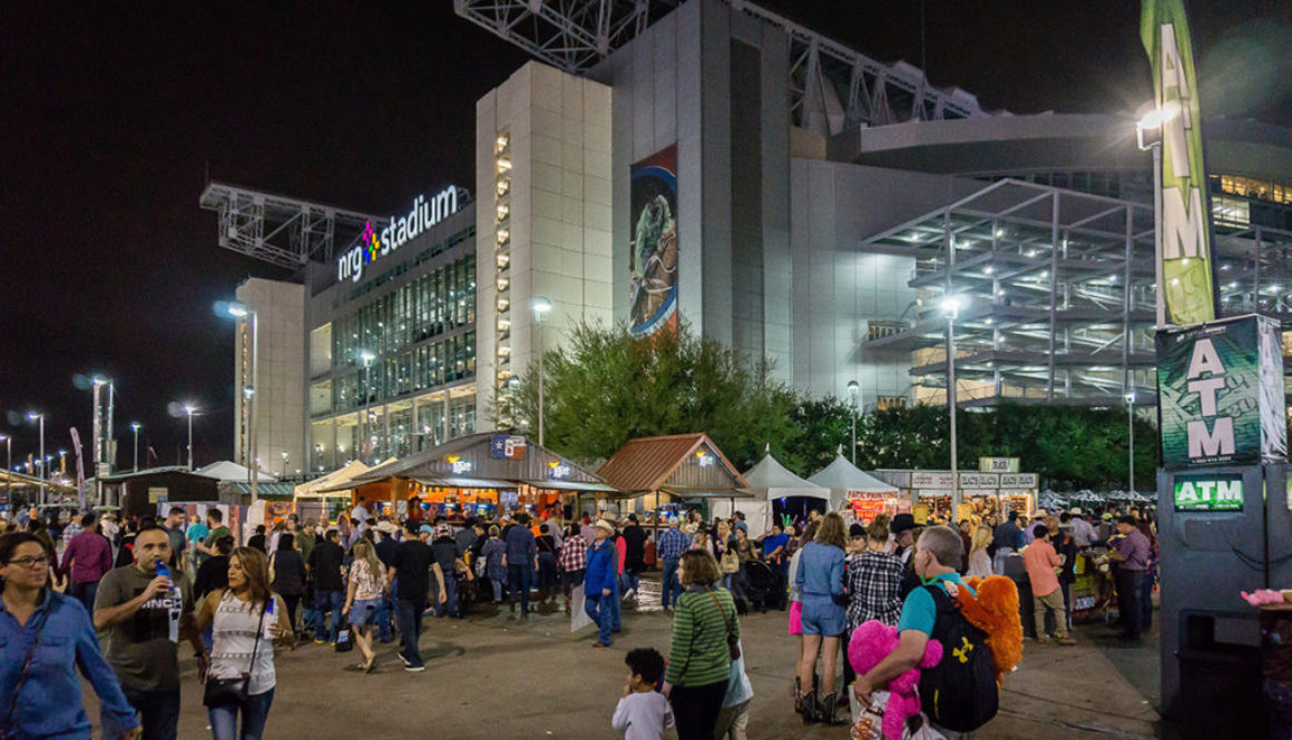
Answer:
<path fill-rule="evenodd" d="M 1239 316 L 1158 332 L 1168 470 L 1287 461 L 1279 323 Z"/>

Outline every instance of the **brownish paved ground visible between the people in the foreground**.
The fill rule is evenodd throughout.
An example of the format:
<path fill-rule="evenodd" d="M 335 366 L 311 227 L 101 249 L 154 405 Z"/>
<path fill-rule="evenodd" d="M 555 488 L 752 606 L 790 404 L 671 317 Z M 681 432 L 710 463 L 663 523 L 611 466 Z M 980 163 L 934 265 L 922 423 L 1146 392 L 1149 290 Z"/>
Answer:
<path fill-rule="evenodd" d="M 742 630 L 756 692 L 749 736 L 846 739 L 846 727 L 805 727 L 791 710 L 797 647 L 786 635 L 786 615 L 748 615 Z M 624 682 L 624 653 L 642 646 L 667 653 L 668 634 L 663 613 L 625 612 L 615 644 L 592 650 L 590 629 L 571 634 L 563 613 L 522 621 L 506 610 L 482 607 L 465 621 L 428 620 L 421 646 L 429 668 L 421 674 L 403 672 L 394 646 L 384 646 L 380 668 L 362 675 L 342 670 L 357 663 L 357 652 L 309 644 L 278 659 L 265 736 L 612 739 L 610 715 Z M 1076 632 L 1078 647 L 1028 644 L 1006 679 L 1000 715 L 979 736 L 1154 737 L 1156 633 L 1136 647 L 1118 644 L 1111 634 L 1103 625 L 1085 625 Z M 191 660 L 183 669 L 180 737 L 209 737 Z"/>

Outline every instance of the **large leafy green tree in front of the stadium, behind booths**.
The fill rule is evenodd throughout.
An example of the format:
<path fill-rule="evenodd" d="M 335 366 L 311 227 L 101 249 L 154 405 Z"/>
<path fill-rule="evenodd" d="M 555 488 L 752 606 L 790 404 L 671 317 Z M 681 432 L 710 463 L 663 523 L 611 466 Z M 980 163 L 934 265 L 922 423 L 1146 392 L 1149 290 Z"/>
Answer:
<path fill-rule="evenodd" d="M 796 395 L 751 362 L 685 325 L 636 340 L 623 327 L 575 327 L 561 349 L 544 353 L 544 440 L 584 464 L 610 457 L 625 442 L 703 431 L 744 470 L 766 444 L 798 437 Z M 495 421 L 537 426 L 537 365 L 500 394 Z"/>

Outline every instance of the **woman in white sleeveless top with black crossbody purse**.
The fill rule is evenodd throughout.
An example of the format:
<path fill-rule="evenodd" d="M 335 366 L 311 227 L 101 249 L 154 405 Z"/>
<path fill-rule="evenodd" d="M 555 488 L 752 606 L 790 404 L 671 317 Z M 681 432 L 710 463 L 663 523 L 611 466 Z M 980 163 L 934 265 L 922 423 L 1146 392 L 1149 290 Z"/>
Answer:
<path fill-rule="evenodd" d="M 264 553 L 238 548 L 230 554 L 229 588 L 207 594 L 198 610 L 198 629 L 208 626 L 211 669 L 203 679 L 248 679 L 245 700 L 208 708 L 211 735 L 214 740 L 260 740 L 274 701 L 274 650 L 296 647 L 287 608 L 269 590 Z"/>

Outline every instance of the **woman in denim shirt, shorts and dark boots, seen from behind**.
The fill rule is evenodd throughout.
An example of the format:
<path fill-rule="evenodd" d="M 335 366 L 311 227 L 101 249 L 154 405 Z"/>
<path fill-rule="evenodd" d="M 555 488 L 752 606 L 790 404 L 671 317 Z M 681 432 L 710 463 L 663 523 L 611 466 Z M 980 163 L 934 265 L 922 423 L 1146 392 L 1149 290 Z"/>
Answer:
<path fill-rule="evenodd" d="M 840 696 L 835 694 L 835 663 L 839 659 L 840 635 L 848 632 L 848 599 L 844 591 L 844 553 L 848 529 L 839 514 L 827 514 L 798 555 L 795 584 L 802 602 L 802 650 L 798 653 L 798 677 L 795 709 L 804 722 L 845 725 L 835 717 Z M 820 688 L 824 695 L 818 708 L 817 652 L 822 656 Z M 842 705 L 848 706 L 846 697 Z"/>

